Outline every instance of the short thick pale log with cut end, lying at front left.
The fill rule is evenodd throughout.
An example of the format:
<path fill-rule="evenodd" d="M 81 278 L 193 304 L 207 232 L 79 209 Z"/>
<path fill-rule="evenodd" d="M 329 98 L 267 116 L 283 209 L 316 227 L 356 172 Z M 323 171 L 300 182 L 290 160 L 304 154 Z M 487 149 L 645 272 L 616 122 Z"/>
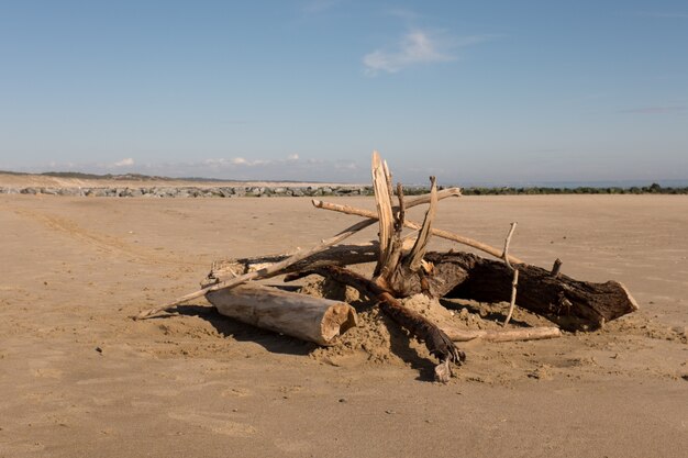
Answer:
<path fill-rule="evenodd" d="M 318 345 L 333 345 L 356 326 L 356 312 L 345 302 L 256 283 L 211 291 L 206 298 L 222 315 Z"/>

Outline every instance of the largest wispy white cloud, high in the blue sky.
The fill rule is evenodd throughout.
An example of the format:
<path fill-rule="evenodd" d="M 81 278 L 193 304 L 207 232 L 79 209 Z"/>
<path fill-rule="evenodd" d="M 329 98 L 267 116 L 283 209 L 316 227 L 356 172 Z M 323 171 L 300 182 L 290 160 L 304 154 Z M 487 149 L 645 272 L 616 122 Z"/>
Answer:
<path fill-rule="evenodd" d="M 474 35 L 458 40 L 439 40 L 429 32 L 417 29 L 407 33 L 393 49 L 376 49 L 366 54 L 363 64 L 368 76 L 376 76 L 380 71 L 395 74 L 407 67 L 455 60 L 457 57 L 453 54 L 454 51 L 488 38 L 488 35 Z"/>

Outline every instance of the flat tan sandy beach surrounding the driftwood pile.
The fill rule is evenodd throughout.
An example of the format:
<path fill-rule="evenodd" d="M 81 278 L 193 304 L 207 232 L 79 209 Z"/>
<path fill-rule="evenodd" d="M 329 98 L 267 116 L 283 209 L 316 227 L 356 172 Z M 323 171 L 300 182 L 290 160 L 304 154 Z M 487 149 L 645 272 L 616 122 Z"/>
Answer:
<path fill-rule="evenodd" d="M 0 196 L 0 457 L 685 456 L 688 198 L 475 197 L 440 213 L 497 246 L 518 221 L 512 254 L 622 281 L 641 311 L 590 334 L 460 344 L 466 365 L 437 384 L 422 344 L 374 308 L 329 349 L 204 300 L 129 319 L 195 290 L 214 259 L 309 247 L 353 216 L 300 198 Z M 504 313 L 452 306 L 466 327 Z"/>

